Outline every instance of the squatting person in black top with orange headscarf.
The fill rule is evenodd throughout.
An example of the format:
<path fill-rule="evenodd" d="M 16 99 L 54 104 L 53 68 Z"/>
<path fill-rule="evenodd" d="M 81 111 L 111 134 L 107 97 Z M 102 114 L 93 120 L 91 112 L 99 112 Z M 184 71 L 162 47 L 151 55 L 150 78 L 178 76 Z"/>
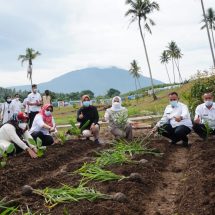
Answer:
<path fill-rule="evenodd" d="M 99 144 L 99 114 L 97 108 L 91 105 L 90 97 L 88 95 L 82 96 L 82 107 L 77 112 L 77 121 L 80 122 L 80 128 L 86 125 L 82 130 L 84 137 L 89 139 L 94 136 L 94 142 Z"/>

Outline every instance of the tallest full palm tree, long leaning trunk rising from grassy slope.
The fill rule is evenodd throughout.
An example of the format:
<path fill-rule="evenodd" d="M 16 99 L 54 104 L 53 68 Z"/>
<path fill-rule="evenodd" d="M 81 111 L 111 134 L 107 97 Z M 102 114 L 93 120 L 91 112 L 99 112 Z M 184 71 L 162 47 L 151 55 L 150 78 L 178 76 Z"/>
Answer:
<path fill-rule="evenodd" d="M 144 21 L 144 28 L 149 32 L 151 32 L 150 25 L 155 25 L 154 21 L 148 18 L 148 15 L 152 13 L 154 10 L 159 10 L 159 5 L 156 2 L 151 2 L 150 0 L 126 0 L 126 4 L 130 5 L 130 9 L 125 13 L 125 16 L 131 15 L 131 23 L 134 21 L 138 21 L 140 36 L 143 41 L 143 46 L 145 50 L 146 60 L 149 69 L 149 75 L 151 79 L 151 87 L 152 87 L 152 95 L 154 100 L 157 99 L 154 91 L 154 83 L 152 78 L 151 66 L 149 63 L 148 52 L 146 48 L 146 42 L 143 36 L 141 21 Z"/>

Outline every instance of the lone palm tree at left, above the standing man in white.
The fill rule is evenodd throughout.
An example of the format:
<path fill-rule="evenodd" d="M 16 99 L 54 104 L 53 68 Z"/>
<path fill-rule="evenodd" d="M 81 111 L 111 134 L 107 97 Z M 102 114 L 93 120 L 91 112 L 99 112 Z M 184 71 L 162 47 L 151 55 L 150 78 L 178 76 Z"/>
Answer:
<path fill-rule="evenodd" d="M 32 86 L 32 61 L 37 57 L 41 55 L 40 52 L 35 51 L 32 48 L 27 48 L 25 51 L 25 55 L 19 55 L 18 60 L 21 60 L 21 63 L 23 65 L 24 62 L 28 62 L 28 69 L 27 69 L 27 78 L 31 81 Z"/>

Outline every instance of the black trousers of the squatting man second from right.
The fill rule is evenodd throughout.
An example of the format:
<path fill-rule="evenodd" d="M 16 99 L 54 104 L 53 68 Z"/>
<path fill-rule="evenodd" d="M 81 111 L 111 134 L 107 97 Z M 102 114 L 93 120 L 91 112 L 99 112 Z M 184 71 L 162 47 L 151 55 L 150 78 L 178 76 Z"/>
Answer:
<path fill-rule="evenodd" d="M 183 142 L 188 142 L 187 135 L 191 132 L 191 129 L 185 125 L 180 125 L 173 128 L 170 124 L 164 124 L 158 128 L 159 134 L 172 140 L 172 142 L 177 143 L 182 140 Z"/>

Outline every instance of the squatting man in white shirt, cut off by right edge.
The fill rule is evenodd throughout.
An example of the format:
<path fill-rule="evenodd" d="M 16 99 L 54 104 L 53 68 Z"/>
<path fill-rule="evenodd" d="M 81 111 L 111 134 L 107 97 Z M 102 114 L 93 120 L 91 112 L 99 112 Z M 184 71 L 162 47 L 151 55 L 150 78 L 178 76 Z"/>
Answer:
<path fill-rule="evenodd" d="M 213 102 L 213 94 L 205 93 L 203 101 L 204 103 L 196 108 L 193 130 L 205 140 L 207 138 L 206 123 L 210 128 L 209 134 L 215 135 L 215 103 Z"/>

